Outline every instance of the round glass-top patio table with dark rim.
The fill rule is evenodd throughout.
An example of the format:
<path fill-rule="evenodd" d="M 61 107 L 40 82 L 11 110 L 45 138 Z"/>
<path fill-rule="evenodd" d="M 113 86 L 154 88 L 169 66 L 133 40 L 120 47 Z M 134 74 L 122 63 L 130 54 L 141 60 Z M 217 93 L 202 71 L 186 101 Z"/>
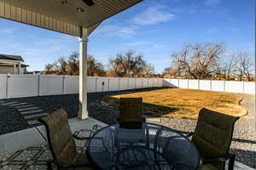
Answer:
<path fill-rule="evenodd" d="M 88 156 L 100 169 L 196 169 L 195 145 L 177 131 L 143 122 L 142 129 L 119 124 L 104 127 L 90 139 Z"/>

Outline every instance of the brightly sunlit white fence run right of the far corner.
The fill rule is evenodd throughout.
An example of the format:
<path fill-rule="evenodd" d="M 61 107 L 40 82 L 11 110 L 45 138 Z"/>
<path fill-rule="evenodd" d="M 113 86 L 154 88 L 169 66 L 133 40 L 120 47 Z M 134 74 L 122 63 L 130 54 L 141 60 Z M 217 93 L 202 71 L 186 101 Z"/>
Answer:
<path fill-rule="evenodd" d="M 232 92 L 242 94 L 255 94 L 255 82 L 217 81 L 217 80 L 189 80 L 189 79 L 163 79 L 163 87 L 192 88 L 218 92 Z"/>

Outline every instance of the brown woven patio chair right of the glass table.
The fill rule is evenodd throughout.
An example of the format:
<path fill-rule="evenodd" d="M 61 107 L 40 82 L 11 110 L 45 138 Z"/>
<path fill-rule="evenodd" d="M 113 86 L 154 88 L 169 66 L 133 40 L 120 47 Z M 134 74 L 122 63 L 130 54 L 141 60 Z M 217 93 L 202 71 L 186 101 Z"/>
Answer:
<path fill-rule="evenodd" d="M 201 109 L 191 141 L 201 154 L 201 170 L 224 170 L 229 160 L 229 170 L 234 168 L 236 155 L 230 154 L 230 143 L 235 122 L 239 117 Z"/>

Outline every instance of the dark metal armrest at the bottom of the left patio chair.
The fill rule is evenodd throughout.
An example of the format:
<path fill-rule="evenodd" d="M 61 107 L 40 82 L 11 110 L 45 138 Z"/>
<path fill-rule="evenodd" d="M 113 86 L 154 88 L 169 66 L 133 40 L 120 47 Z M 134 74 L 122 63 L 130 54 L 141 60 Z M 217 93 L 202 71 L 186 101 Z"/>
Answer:
<path fill-rule="evenodd" d="M 47 161 L 47 169 L 53 170 L 51 167 L 52 164 L 55 164 L 57 167 L 70 168 L 70 167 L 89 167 L 91 163 L 64 163 L 57 160 L 49 160 Z"/>

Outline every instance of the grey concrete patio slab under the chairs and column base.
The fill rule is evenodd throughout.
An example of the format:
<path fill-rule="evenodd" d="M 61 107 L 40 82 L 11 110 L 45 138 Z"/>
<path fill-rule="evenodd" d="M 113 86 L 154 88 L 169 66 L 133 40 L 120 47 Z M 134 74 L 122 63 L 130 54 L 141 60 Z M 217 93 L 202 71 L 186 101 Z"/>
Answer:
<path fill-rule="evenodd" d="M 79 120 L 78 118 L 72 118 L 69 119 L 69 125 L 72 130 L 72 132 L 75 132 L 76 130 L 79 129 L 84 129 L 84 128 L 91 128 L 93 125 L 98 124 L 101 125 L 102 127 L 107 126 L 107 124 L 103 122 L 99 122 L 94 118 L 88 117 L 85 120 Z M 32 127 L 29 129 L 21 130 L 15 133 L 8 133 L 0 136 L 0 159 L 3 158 L 4 155 L 7 154 L 14 154 L 14 156 L 20 156 L 23 155 L 26 157 L 26 159 L 29 159 L 29 156 L 31 156 L 31 153 L 36 152 L 36 153 L 41 153 L 42 151 L 44 153 L 47 153 L 47 147 L 45 148 L 45 145 L 47 145 L 47 138 L 46 138 L 46 131 L 44 126 L 39 126 L 39 127 Z M 2 142 L 3 141 L 3 142 Z M 42 146 L 38 146 L 42 145 Z M 30 154 L 29 154 L 30 153 Z M 45 155 L 45 154 L 44 154 Z M 49 155 L 49 154 L 48 154 Z M 14 157 L 11 156 L 11 157 Z M 4 158 L 3 158 L 4 159 Z M 44 159 L 48 159 L 47 156 Z M 6 159 L 4 159 L 6 160 Z M 3 160 L 3 162 L 4 162 Z M 46 161 L 44 160 L 44 161 Z M 1 160 L 0 160 L 1 161 Z M 38 160 L 35 160 L 38 161 Z M 34 165 L 28 165 L 26 161 L 15 161 L 15 165 L 13 165 L 13 162 L 8 162 L 6 163 L 9 165 L 5 166 L 10 170 L 13 169 L 20 169 L 22 167 L 27 167 L 28 169 L 32 167 L 40 167 L 40 169 L 45 169 L 46 166 L 42 164 L 44 161 L 38 161 L 34 162 Z M 18 163 L 18 164 L 17 164 Z M 20 164 L 19 164 L 20 163 Z M 17 167 L 18 166 L 18 167 Z M 20 167 L 19 167 L 20 166 Z M 228 166 L 228 162 L 226 164 L 226 167 Z M 227 169 L 227 168 L 226 168 Z M 235 162 L 235 167 L 234 170 L 254 170 L 251 167 L 247 167 L 240 162 L 236 161 Z"/>

